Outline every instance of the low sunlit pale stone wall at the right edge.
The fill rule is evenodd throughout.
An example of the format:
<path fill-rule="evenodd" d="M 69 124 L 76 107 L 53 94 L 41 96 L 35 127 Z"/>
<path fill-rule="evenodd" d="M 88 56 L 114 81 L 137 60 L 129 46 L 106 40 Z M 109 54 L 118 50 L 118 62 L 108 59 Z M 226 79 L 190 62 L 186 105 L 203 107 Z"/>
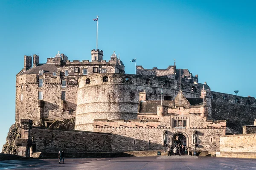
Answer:
<path fill-rule="evenodd" d="M 220 152 L 256 152 L 256 133 L 220 137 Z"/>

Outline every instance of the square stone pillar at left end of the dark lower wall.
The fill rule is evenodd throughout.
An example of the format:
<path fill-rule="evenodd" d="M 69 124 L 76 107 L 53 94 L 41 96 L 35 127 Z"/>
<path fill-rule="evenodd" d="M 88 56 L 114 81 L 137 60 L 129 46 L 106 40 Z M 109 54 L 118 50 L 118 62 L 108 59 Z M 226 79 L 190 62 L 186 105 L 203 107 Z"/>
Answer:
<path fill-rule="evenodd" d="M 19 156 L 30 156 L 30 147 L 32 146 L 32 140 L 30 139 L 30 129 L 33 124 L 30 119 L 20 119 L 21 123 L 21 137 L 15 140 L 17 146 L 17 153 Z"/>

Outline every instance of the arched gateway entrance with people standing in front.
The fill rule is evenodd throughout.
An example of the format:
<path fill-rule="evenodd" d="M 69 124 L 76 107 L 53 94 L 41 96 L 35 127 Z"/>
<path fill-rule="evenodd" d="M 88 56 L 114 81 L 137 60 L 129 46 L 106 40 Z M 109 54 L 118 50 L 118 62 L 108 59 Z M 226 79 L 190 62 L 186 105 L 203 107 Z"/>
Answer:
<path fill-rule="evenodd" d="M 171 139 L 170 144 L 172 146 L 175 146 L 177 144 L 183 144 L 184 146 L 189 147 L 189 136 L 182 131 L 177 131 L 173 133 L 170 139 Z"/>

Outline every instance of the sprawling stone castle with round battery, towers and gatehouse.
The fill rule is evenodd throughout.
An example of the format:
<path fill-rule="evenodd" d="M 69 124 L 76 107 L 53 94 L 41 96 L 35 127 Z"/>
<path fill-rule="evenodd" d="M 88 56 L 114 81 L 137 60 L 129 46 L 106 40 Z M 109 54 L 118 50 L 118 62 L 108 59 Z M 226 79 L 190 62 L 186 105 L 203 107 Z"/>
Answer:
<path fill-rule="evenodd" d="M 211 91 L 175 63 L 166 69 L 137 66 L 136 75 L 125 74 L 115 52 L 106 61 L 98 49 L 91 61 L 58 53 L 40 64 L 39 56 L 33 62 L 24 56 L 16 75 L 16 123 L 25 131 L 15 144 L 24 156 L 32 144 L 35 152 L 58 146 L 67 152 L 157 150 L 177 143 L 218 151 L 220 136 L 241 133 L 242 125 L 253 124 L 254 113 L 255 98 Z M 75 125 L 66 131 L 50 130 L 70 119 Z M 56 144 L 60 135 L 66 142 Z"/>

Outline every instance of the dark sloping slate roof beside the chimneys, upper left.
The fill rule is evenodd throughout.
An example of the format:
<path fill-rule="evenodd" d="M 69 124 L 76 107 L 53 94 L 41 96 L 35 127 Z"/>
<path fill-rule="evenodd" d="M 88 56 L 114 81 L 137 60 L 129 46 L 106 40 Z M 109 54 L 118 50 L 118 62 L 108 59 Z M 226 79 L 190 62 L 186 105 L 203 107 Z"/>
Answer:
<path fill-rule="evenodd" d="M 57 71 L 55 64 L 38 64 L 36 67 L 29 68 L 22 74 L 39 74 L 40 70 L 44 70 L 44 74 L 52 74 L 52 72 Z"/>

